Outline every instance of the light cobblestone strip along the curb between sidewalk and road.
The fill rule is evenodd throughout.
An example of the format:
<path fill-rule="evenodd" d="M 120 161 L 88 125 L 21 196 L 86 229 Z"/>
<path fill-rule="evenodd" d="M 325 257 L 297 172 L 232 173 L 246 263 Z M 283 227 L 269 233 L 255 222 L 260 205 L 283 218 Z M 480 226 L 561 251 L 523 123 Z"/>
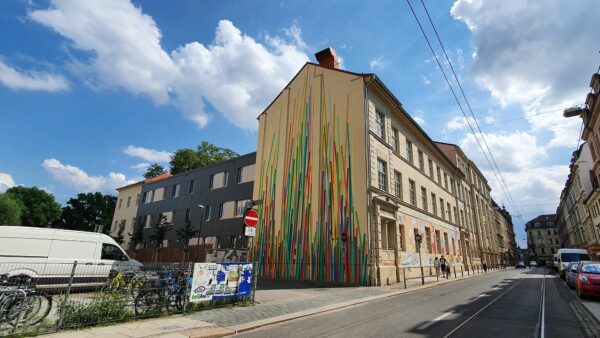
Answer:
<path fill-rule="evenodd" d="M 327 290 L 323 291 L 321 296 L 314 296 L 308 299 L 295 299 L 289 301 L 277 301 L 266 304 L 257 304 L 254 306 L 243 308 L 224 308 L 204 311 L 198 314 L 190 315 L 190 318 L 201 321 L 232 326 L 245 324 L 256 320 L 281 316 L 303 310 L 310 310 L 327 306 L 331 304 L 341 303 L 353 299 L 367 298 L 381 294 L 390 293 L 390 289 L 378 288 L 352 288 L 345 290 Z"/>

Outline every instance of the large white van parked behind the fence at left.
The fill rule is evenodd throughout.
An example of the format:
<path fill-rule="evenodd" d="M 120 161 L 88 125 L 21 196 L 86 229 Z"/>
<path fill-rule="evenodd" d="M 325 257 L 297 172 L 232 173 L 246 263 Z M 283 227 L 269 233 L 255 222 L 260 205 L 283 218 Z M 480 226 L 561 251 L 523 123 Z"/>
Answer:
<path fill-rule="evenodd" d="M 101 285 L 111 273 L 143 268 L 101 233 L 0 226 L 0 275 L 29 276 L 40 287 L 61 288 L 74 265 L 74 287 Z"/>

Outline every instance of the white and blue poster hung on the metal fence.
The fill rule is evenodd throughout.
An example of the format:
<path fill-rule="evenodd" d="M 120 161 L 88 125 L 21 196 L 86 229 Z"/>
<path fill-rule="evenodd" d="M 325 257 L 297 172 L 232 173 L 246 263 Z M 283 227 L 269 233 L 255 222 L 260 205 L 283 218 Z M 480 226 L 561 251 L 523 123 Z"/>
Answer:
<path fill-rule="evenodd" d="M 190 302 L 250 296 L 252 263 L 196 263 Z"/>

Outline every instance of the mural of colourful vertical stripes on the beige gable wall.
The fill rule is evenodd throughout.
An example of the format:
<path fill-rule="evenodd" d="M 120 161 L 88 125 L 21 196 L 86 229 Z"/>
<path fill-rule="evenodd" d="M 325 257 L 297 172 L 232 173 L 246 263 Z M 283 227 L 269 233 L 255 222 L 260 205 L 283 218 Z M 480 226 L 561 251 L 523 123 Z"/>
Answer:
<path fill-rule="evenodd" d="M 366 234 L 360 231 L 352 193 L 350 98 L 343 98 L 346 111 L 337 111 L 339 102 L 334 98 L 341 96 L 332 98 L 326 92 L 324 77 L 316 83 L 320 88 L 316 100 L 311 96 L 312 82 L 308 76 L 304 79 L 300 101 L 293 101 L 291 111 L 279 112 L 279 118 L 290 119 L 286 130 L 279 131 L 285 139 L 280 144 L 280 135 L 274 133 L 271 142 L 265 142 L 269 149 L 263 150 L 264 164 L 255 182 L 263 203 L 251 260 L 259 263 L 261 276 L 366 285 Z M 313 123 L 319 123 L 319 135 L 311 132 Z M 311 149 L 316 145 L 315 154 Z M 283 167 L 278 167 L 280 156 Z M 313 177 L 315 166 L 318 176 Z M 282 195 L 276 196 L 279 176 Z M 275 222 L 276 212 L 280 224 Z"/>

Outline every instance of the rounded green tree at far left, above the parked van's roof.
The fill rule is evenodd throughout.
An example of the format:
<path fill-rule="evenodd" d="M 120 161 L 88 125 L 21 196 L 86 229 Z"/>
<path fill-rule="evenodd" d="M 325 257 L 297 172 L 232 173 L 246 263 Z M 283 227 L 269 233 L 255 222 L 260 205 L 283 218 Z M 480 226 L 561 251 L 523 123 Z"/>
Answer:
<path fill-rule="evenodd" d="M 46 227 L 60 218 L 60 204 L 54 196 L 36 187 L 12 187 L 6 191 L 21 209 L 21 225 Z"/>

